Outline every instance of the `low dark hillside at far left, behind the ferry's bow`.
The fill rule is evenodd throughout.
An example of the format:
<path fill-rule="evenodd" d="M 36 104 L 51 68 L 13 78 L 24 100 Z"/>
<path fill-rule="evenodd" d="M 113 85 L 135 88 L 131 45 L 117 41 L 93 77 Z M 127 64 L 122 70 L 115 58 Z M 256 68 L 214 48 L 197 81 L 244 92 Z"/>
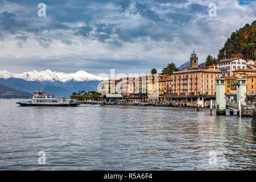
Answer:
<path fill-rule="evenodd" d="M 0 98 L 31 98 L 32 94 L 0 85 Z"/>

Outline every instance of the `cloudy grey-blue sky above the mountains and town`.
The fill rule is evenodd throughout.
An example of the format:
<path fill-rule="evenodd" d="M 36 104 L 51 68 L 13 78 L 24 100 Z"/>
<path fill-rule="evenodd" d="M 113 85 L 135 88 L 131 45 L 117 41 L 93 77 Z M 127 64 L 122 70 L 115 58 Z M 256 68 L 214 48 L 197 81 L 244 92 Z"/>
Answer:
<path fill-rule="evenodd" d="M 148 73 L 183 64 L 193 49 L 203 63 L 255 19 L 252 0 L 1 0 L 0 69 Z"/>

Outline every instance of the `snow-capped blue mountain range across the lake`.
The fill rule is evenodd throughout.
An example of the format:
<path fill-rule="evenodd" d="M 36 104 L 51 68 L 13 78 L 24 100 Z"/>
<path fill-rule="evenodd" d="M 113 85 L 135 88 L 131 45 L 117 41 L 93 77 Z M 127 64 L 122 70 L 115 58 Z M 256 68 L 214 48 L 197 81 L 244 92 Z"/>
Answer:
<path fill-rule="evenodd" d="M 85 90 L 86 92 L 97 90 L 98 84 L 107 79 L 85 71 L 63 73 L 47 69 L 40 72 L 33 70 L 14 74 L 4 69 L 0 70 L 0 85 L 28 93 L 33 93 L 43 88 L 47 93 L 68 98 L 72 92 L 78 92 L 79 90 Z"/>

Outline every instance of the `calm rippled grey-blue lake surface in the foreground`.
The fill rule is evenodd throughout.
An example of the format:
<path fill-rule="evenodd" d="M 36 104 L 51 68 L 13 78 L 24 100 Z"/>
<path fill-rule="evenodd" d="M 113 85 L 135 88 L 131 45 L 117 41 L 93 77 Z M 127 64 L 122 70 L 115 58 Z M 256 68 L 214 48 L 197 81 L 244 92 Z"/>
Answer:
<path fill-rule="evenodd" d="M 256 168 L 251 118 L 151 106 L 20 107 L 0 100 L 1 170 Z M 215 113 L 215 112 L 213 112 Z M 39 151 L 46 164 L 38 164 Z"/>

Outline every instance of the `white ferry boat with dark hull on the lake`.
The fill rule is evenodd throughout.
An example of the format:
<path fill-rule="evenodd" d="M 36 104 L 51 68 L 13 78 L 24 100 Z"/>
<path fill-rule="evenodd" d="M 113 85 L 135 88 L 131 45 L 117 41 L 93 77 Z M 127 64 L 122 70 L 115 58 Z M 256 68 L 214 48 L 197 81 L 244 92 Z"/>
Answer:
<path fill-rule="evenodd" d="M 46 94 L 45 92 L 34 92 L 32 101 L 16 102 L 20 106 L 78 106 L 78 102 L 72 102 L 66 98 L 55 98 L 53 94 Z"/>

